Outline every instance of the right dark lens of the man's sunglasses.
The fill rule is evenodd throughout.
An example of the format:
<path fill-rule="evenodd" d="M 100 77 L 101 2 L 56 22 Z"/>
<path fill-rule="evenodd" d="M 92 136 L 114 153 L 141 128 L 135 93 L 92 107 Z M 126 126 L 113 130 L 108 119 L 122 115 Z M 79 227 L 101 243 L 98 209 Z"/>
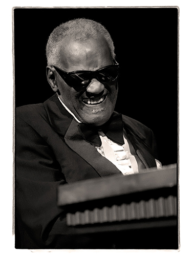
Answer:
<path fill-rule="evenodd" d="M 118 66 L 113 66 L 98 71 L 97 78 L 100 82 L 112 82 L 117 79 L 118 75 Z"/>

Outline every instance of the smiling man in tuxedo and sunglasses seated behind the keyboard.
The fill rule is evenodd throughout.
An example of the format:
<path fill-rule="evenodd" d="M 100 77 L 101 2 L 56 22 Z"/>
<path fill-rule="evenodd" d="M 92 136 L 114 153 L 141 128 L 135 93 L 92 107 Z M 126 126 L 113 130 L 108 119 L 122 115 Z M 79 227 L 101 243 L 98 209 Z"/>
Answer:
<path fill-rule="evenodd" d="M 114 112 L 119 65 L 108 31 L 71 20 L 54 29 L 46 50 L 55 94 L 16 114 L 16 248 L 73 247 L 58 185 L 159 166 L 152 131 Z M 75 248 L 89 242 L 78 238 Z"/>

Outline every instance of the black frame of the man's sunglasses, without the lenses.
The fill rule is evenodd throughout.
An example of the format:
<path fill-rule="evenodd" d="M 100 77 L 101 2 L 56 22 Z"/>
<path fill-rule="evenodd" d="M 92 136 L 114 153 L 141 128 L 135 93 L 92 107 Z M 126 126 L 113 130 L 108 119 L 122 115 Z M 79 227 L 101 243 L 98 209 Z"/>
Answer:
<path fill-rule="evenodd" d="M 87 73 L 87 74 L 92 74 L 92 77 L 93 78 L 96 78 L 98 81 L 100 81 L 98 78 L 97 78 L 97 75 L 96 75 L 96 73 L 98 73 L 99 71 L 101 71 L 101 70 L 103 70 L 103 69 L 106 69 L 106 68 L 110 68 L 110 67 L 117 67 L 117 69 L 119 69 L 119 63 L 117 63 L 117 61 L 115 60 L 115 59 L 113 59 L 114 60 L 114 62 L 115 62 L 115 64 L 113 64 L 113 65 L 109 65 L 109 66 L 105 66 L 105 67 L 103 67 L 103 68 L 101 68 L 101 69 L 98 69 L 98 70 L 95 70 L 95 71 L 88 71 L 88 70 L 78 70 L 78 71 L 71 71 L 71 72 L 66 72 L 66 71 L 64 71 L 64 70 L 61 70 L 61 69 L 59 69 L 58 67 L 56 67 L 56 66 L 54 66 L 53 65 L 53 67 L 54 67 L 54 69 L 56 70 L 56 72 L 59 74 L 59 76 L 63 79 L 63 81 L 65 81 L 65 79 L 67 79 L 67 76 L 71 76 L 72 74 L 77 74 L 77 73 Z M 95 74 L 95 75 L 94 75 Z M 118 76 L 119 76 L 119 71 L 118 71 L 118 74 L 117 74 L 117 77 L 114 79 L 114 80 L 112 80 L 112 81 L 110 81 L 110 82 L 113 82 L 113 81 L 115 81 L 117 78 L 118 78 Z M 92 78 L 92 79 L 93 79 Z M 92 80 L 91 79 L 91 80 Z M 90 79 L 89 79 L 90 80 Z M 90 80 L 90 82 L 91 82 L 91 80 Z M 66 82 L 66 81 L 65 81 Z M 82 83 L 81 84 L 79 84 L 79 86 L 70 86 L 67 82 L 67 84 L 68 84 L 68 86 L 70 86 L 70 87 L 78 87 L 78 88 L 83 88 L 83 87 L 88 87 L 89 86 L 89 84 L 90 84 L 90 82 L 89 83 L 86 83 L 86 84 L 83 84 L 83 81 L 82 81 Z M 103 82 L 103 81 L 100 81 L 100 82 L 102 82 L 102 83 L 110 83 L 110 82 Z M 81 87 L 80 87 L 80 85 L 81 85 Z"/>

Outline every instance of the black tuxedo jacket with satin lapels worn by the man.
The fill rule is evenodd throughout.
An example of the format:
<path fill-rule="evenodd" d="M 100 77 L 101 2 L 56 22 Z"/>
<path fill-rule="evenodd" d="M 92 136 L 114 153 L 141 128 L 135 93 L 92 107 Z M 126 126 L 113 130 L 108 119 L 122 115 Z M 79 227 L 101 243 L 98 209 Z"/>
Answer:
<path fill-rule="evenodd" d="M 143 166 L 155 167 L 152 131 L 130 117 L 122 120 Z M 122 174 L 82 138 L 56 94 L 17 108 L 15 138 L 15 247 L 70 248 L 65 209 L 57 206 L 58 185 Z"/>

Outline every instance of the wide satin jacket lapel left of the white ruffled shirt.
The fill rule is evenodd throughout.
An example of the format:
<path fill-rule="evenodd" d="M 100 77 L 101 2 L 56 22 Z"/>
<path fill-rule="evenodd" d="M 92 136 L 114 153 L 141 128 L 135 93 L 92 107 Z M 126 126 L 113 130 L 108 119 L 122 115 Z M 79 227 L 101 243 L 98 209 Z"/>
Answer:
<path fill-rule="evenodd" d="M 78 129 L 78 123 L 73 119 L 65 135 L 68 146 L 80 157 L 87 161 L 99 176 L 121 174 L 120 170 L 108 159 L 101 156 L 95 146 L 82 138 Z M 83 170 L 81 170 L 83 172 Z"/>

